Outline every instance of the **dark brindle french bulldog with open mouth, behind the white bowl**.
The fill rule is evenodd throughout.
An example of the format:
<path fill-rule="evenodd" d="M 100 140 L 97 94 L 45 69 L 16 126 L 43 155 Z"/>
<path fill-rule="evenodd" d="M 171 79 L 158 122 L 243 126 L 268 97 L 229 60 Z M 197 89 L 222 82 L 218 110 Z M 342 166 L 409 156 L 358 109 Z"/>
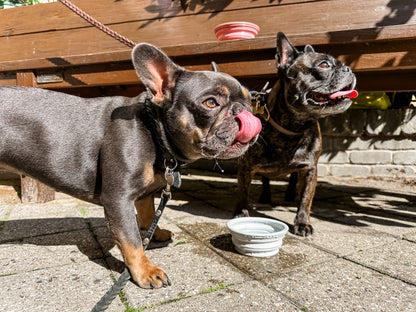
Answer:
<path fill-rule="evenodd" d="M 307 45 L 298 51 L 283 33 L 277 35 L 278 80 L 267 97 L 270 111 L 263 121 L 261 139 L 251 147 L 238 166 L 236 216 L 248 216 L 251 180 L 259 174 L 263 181 L 262 203 L 270 203 L 270 180 L 292 174 L 286 200 L 300 195 L 294 233 L 313 233 L 310 209 L 317 183 L 317 163 L 321 154 L 318 119 L 339 114 L 351 105 L 355 75 L 334 57 L 317 53 Z M 296 181 L 297 180 L 297 181 Z"/>

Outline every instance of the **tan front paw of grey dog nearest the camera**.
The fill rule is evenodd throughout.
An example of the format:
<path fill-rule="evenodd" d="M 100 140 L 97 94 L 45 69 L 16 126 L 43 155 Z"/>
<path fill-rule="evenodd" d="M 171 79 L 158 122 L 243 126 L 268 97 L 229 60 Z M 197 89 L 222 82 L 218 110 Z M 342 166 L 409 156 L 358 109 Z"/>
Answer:
<path fill-rule="evenodd" d="M 172 285 L 162 268 L 150 261 L 141 265 L 135 272 L 130 270 L 133 280 L 142 288 L 160 288 Z"/>

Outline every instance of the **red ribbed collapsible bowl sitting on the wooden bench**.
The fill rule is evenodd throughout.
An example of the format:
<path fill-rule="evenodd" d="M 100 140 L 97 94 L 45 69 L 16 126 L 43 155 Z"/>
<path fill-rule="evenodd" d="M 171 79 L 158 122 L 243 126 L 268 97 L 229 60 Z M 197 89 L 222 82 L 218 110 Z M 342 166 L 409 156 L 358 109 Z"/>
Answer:
<path fill-rule="evenodd" d="M 249 22 L 228 22 L 215 27 L 218 41 L 252 39 L 257 36 L 260 27 Z"/>

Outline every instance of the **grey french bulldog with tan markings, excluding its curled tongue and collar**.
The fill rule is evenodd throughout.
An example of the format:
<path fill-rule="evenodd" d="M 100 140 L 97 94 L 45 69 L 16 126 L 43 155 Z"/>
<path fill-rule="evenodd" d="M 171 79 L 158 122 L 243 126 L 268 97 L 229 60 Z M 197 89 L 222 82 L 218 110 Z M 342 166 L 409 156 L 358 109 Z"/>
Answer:
<path fill-rule="evenodd" d="M 139 234 L 138 223 L 148 228 L 154 216 L 153 194 L 166 185 L 149 118 L 155 119 L 164 148 L 183 163 L 238 157 L 256 137 L 235 141 L 235 116 L 251 107 L 248 91 L 231 76 L 185 70 L 149 44 L 137 45 L 132 58 L 148 89 L 135 98 L 84 99 L 0 87 L 0 165 L 103 205 L 133 279 L 153 288 L 170 281 L 145 256 Z M 146 97 L 152 101 L 150 112 L 143 104 Z M 154 234 L 157 240 L 171 236 L 159 228 Z"/>

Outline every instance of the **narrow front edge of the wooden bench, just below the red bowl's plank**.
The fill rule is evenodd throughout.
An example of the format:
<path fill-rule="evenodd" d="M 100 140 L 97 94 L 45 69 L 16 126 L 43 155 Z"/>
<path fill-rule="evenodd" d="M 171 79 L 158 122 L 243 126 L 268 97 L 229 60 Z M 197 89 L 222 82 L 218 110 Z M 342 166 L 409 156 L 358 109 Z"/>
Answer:
<path fill-rule="evenodd" d="M 377 32 L 377 37 L 374 33 Z M 354 46 L 352 50 L 361 52 L 377 45 L 387 46 L 387 49 L 401 47 L 400 41 L 410 42 L 413 46 L 403 47 L 402 51 L 415 50 L 414 42 L 416 40 L 416 25 L 397 25 L 384 28 L 369 28 L 358 31 L 339 31 L 328 33 L 310 33 L 289 36 L 292 43 L 296 46 L 312 44 L 318 51 L 325 51 L 333 55 L 341 55 L 345 50 L 351 50 L 352 44 L 361 43 L 360 46 Z M 394 44 L 392 44 L 394 42 Z M 211 54 L 229 54 L 232 52 L 256 52 L 261 50 L 274 50 L 276 46 L 276 35 L 260 37 L 250 40 L 233 40 L 224 42 L 207 42 L 202 44 L 189 44 L 182 46 L 168 46 L 161 48 L 171 57 L 190 55 L 193 57 Z M 330 46 L 330 48 L 328 48 Z M 338 47 L 338 48 L 336 48 Z M 341 51 L 342 50 L 342 51 Z M 27 60 L 2 61 L 0 62 L 0 71 L 13 71 L 24 69 L 68 67 L 73 65 L 97 64 L 118 61 L 130 61 L 131 51 L 111 51 L 99 52 L 80 55 L 69 55 L 64 57 L 53 58 L 31 58 Z"/>

